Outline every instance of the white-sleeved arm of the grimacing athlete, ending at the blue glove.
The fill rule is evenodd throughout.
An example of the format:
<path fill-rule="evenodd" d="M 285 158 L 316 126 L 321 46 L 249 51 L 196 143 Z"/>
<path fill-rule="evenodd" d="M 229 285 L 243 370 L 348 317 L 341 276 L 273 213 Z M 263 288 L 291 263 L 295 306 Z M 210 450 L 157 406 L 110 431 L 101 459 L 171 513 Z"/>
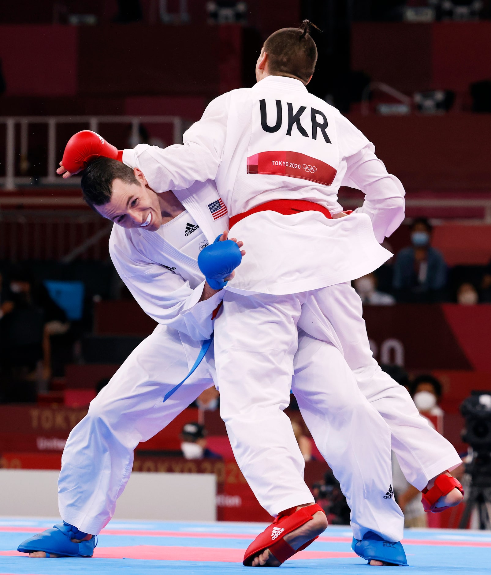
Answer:
<path fill-rule="evenodd" d="M 109 253 L 119 277 L 147 315 L 196 341 L 210 338 L 212 314 L 222 301 L 223 290 L 204 294 L 204 281 L 192 289 L 172 269 L 142 256 L 122 228 L 113 229 Z"/>

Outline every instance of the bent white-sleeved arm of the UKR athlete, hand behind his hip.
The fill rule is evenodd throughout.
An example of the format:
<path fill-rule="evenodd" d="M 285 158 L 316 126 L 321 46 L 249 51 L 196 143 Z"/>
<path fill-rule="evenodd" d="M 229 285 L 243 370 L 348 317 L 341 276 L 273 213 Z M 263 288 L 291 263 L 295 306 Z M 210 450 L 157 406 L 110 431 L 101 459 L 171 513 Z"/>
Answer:
<path fill-rule="evenodd" d="M 374 145 L 351 122 L 341 118 L 341 150 L 347 164 L 341 185 L 365 194 L 363 205 L 355 212 L 370 216 L 375 237 L 382 243 L 404 220 L 404 187 L 377 158 Z"/>

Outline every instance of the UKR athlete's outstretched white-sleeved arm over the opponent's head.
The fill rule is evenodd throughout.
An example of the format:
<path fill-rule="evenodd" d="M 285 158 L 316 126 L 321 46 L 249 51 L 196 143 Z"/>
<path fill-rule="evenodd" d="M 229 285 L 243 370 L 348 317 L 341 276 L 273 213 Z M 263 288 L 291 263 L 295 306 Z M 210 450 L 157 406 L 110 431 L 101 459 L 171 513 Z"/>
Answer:
<path fill-rule="evenodd" d="M 228 102 L 227 94 L 210 102 L 201 120 L 184 133 L 184 144 L 139 144 L 123 151 L 123 162 L 140 168 L 155 191 L 184 190 L 196 181 L 214 180 L 225 147 Z"/>

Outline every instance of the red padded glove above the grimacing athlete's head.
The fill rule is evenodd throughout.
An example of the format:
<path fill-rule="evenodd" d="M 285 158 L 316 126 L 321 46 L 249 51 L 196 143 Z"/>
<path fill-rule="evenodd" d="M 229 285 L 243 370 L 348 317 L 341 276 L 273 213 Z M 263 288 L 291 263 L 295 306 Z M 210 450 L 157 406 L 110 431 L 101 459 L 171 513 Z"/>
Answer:
<path fill-rule="evenodd" d="M 117 150 L 99 134 L 90 130 L 82 130 L 68 140 L 63 152 L 62 163 L 65 170 L 71 174 L 76 174 L 86 168 L 91 160 L 99 158 L 99 156 L 113 158 L 119 162 L 123 161 L 122 150 Z"/>

